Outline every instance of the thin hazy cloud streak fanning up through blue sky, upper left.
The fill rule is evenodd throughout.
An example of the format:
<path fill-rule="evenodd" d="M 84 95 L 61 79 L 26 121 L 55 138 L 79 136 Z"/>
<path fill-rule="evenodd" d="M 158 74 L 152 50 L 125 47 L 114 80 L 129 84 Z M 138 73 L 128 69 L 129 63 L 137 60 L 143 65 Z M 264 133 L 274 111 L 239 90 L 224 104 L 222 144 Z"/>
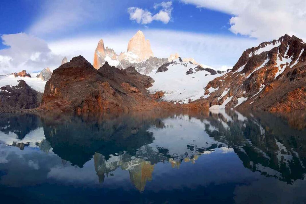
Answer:
<path fill-rule="evenodd" d="M 27 32 L 43 35 L 80 27 L 93 20 L 101 21 L 106 16 L 107 6 L 107 2 L 98 0 L 46 1 Z"/>

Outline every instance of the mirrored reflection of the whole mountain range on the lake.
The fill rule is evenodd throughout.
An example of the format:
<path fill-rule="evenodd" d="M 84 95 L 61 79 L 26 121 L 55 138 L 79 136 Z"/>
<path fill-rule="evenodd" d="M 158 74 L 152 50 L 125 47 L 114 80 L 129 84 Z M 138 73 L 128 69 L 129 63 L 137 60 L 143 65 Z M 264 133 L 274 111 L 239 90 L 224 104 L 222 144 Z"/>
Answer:
<path fill-rule="evenodd" d="M 128 171 L 139 191 L 152 180 L 156 164 L 177 169 L 217 148 L 234 151 L 253 172 L 293 184 L 306 173 L 305 118 L 233 110 L 1 115 L 0 141 L 54 153 L 63 166 L 83 168 L 93 160 L 99 183 L 116 176 L 116 169 Z"/>

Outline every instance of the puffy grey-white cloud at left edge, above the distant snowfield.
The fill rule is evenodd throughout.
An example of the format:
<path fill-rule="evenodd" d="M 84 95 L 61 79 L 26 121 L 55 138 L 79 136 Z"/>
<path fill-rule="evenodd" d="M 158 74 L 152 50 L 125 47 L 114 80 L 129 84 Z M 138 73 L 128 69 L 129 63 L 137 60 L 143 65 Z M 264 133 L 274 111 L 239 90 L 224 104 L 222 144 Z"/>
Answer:
<path fill-rule="evenodd" d="M 62 56 L 51 52 L 47 43 L 25 33 L 2 35 L 2 43 L 8 48 L 0 50 L 0 74 L 12 72 L 39 72 L 46 67 L 54 69 Z"/>

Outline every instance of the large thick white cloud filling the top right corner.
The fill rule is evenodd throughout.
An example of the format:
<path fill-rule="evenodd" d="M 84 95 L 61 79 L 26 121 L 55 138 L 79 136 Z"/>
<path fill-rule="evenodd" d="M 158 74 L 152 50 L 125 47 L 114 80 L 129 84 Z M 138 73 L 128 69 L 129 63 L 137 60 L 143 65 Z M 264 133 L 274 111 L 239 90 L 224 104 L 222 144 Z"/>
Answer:
<path fill-rule="evenodd" d="M 228 13 L 230 31 L 260 40 L 278 39 L 287 33 L 306 38 L 306 1 L 301 0 L 181 0 Z"/>

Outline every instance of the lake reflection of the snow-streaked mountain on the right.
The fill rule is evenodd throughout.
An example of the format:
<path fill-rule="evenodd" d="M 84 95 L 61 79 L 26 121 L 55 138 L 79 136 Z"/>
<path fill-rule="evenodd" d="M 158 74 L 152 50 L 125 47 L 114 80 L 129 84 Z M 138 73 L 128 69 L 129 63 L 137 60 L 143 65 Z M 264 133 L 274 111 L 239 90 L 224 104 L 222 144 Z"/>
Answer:
<path fill-rule="evenodd" d="M 232 147 L 246 168 L 293 184 L 306 173 L 306 131 L 294 122 L 305 114 L 288 114 L 220 110 L 211 113 L 206 131 Z"/>

